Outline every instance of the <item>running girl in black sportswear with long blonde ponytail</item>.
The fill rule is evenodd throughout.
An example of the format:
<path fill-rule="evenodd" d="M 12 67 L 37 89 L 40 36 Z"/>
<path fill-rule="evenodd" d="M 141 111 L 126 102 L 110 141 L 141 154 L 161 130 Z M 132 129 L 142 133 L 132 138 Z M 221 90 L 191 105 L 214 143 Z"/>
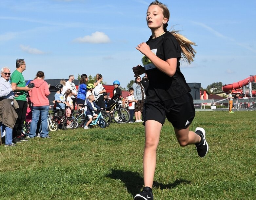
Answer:
<path fill-rule="evenodd" d="M 134 200 L 153 200 L 152 186 L 156 167 L 156 149 L 165 119 L 172 123 L 180 146 L 196 145 L 197 153 L 208 152 L 205 130 L 189 131 L 195 116 L 190 88 L 180 70 L 180 59 L 193 61 L 195 50 L 191 42 L 175 31 L 167 31 L 170 13 L 166 5 L 152 2 L 147 10 L 147 24 L 152 35 L 136 49 L 143 55 L 144 67 L 133 68 L 134 76 L 147 73 L 149 85 L 145 103 L 145 147 L 143 155 L 144 188 Z"/>

